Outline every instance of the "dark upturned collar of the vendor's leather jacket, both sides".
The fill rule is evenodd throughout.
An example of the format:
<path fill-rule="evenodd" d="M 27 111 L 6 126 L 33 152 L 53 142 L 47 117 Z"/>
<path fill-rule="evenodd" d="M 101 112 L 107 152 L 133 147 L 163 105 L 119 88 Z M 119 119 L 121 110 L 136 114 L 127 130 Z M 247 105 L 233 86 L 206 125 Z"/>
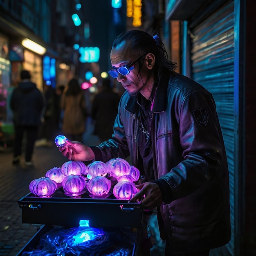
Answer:
<path fill-rule="evenodd" d="M 169 73 L 163 72 L 155 92 L 152 112 L 161 112 L 166 109 L 166 94 L 169 79 Z M 136 114 L 138 112 L 139 105 L 137 103 L 137 96 L 133 96 L 128 99 L 125 109 L 132 114 Z"/>

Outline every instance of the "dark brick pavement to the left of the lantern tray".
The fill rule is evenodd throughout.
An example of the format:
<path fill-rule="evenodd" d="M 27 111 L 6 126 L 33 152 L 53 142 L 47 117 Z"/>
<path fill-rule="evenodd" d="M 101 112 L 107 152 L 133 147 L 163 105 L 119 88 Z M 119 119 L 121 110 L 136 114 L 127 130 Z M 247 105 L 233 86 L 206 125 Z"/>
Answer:
<path fill-rule="evenodd" d="M 35 148 L 34 166 L 13 166 L 11 149 L 0 152 L 0 256 L 16 256 L 37 231 L 32 224 L 21 223 L 17 200 L 30 193 L 32 180 L 66 161 L 56 146 Z"/>

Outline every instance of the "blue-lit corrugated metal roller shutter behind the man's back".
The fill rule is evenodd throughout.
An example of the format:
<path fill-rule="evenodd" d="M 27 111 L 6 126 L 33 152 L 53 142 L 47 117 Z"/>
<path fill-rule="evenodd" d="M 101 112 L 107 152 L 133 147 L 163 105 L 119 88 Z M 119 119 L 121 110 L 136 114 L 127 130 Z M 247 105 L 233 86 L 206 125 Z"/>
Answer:
<path fill-rule="evenodd" d="M 234 1 L 213 13 L 191 32 L 192 78 L 213 94 L 227 151 L 231 241 L 220 250 L 221 255 L 234 255 Z"/>

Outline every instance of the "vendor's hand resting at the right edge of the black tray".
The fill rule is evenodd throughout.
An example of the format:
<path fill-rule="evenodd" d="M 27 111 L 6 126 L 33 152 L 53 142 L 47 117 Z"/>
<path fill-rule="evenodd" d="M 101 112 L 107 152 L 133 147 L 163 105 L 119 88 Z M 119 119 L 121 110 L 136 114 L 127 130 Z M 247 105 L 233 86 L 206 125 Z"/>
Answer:
<path fill-rule="evenodd" d="M 156 183 L 145 182 L 136 185 L 136 187 L 139 189 L 139 192 L 136 193 L 130 201 L 134 202 L 145 195 L 141 202 L 145 211 L 153 211 L 153 209 L 162 204 L 162 193 Z"/>

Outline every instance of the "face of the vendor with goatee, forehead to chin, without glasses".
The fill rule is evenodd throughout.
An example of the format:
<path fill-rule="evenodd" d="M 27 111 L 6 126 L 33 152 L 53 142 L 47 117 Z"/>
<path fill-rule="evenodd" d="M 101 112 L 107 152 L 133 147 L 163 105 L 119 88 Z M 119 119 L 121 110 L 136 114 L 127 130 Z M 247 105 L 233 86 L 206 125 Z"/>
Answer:
<path fill-rule="evenodd" d="M 110 60 L 113 68 L 129 65 L 139 55 L 134 55 L 130 52 L 130 44 L 122 42 L 117 47 L 112 48 L 110 53 Z M 130 70 L 130 73 L 126 76 L 118 74 L 117 81 L 119 81 L 127 92 L 133 96 L 140 92 L 144 87 L 150 76 L 149 70 L 144 65 L 145 59 L 141 58 L 134 65 L 134 69 Z M 140 69 L 139 69 L 140 68 Z"/>

